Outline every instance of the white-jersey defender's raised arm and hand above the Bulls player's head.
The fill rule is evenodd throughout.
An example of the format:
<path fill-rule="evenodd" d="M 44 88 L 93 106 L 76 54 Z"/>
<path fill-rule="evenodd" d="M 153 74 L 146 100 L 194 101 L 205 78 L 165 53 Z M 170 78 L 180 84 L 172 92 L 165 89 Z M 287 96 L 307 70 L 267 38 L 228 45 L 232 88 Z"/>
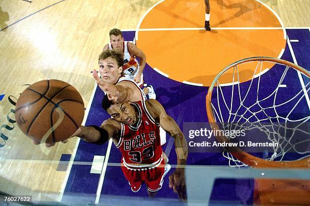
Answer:
<path fill-rule="evenodd" d="M 107 93 L 108 98 L 113 102 L 123 103 L 133 96 L 133 90 L 128 86 L 129 83 L 110 84 L 99 78 L 97 71 L 93 70 L 93 77 L 100 88 Z M 133 84 L 133 83 L 130 83 Z"/>

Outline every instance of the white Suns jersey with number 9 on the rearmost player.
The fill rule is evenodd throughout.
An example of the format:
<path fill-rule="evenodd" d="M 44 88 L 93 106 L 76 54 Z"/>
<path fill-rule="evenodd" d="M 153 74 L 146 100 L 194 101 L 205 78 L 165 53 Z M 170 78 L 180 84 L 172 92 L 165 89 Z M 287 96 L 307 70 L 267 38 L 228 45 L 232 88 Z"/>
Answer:
<path fill-rule="evenodd" d="M 124 41 L 123 43 L 123 52 L 124 52 L 124 63 L 123 63 L 123 71 L 126 77 L 134 79 L 139 70 L 139 63 L 135 56 L 131 56 L 128 50 L 128 42 Z M 109 42 L 109 49 L 112 50 L 112 44 Z"/>

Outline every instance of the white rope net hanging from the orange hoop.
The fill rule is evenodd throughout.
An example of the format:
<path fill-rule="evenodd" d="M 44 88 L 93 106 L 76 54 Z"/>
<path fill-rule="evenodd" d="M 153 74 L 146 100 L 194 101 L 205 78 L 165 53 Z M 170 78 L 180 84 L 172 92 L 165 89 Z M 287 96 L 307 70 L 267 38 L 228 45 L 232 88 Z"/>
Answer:
<path fill-rule="evenodd" d="M 214 81 L 211 108 L 215 121 L 223 130 L 244 130 L 252 138 L 273 143 L 271 150 L 247 150 L 256 157 L 269 161 L 309 158 L 309 72 L 272 58 L 252 59 L 225 68 Z M 249 66 L 254 66 L 251 76 Z M 221 83 L 227 82 L 227 76 L 234 83 Z M 223 156 L 231 167 L 248 166 L 228 151 Z"/>

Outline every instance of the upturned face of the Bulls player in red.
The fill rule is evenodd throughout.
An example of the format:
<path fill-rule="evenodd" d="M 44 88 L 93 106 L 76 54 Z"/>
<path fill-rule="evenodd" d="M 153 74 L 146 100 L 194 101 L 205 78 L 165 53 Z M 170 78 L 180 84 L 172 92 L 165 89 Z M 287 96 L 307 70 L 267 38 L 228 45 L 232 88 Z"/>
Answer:
<path fill-rule="evenodd" d="M 122 104 L 111 105 L 107 109 L 107 112 L 118 122 L 127 125 L 134 125 L 137 122 L 137 113 L 128 101 Z"/>

